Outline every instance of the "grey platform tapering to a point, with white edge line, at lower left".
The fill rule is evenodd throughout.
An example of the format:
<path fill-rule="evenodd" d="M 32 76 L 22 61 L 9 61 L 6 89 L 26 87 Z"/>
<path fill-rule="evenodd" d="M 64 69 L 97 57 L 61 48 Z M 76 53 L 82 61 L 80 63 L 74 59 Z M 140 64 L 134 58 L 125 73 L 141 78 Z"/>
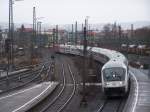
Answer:
<path fill-rule="evenodd" d="M 25 112 L 48 96 L 57 82 L 43 82 L 27 89 L 0 97 L 0 111 Z"/>

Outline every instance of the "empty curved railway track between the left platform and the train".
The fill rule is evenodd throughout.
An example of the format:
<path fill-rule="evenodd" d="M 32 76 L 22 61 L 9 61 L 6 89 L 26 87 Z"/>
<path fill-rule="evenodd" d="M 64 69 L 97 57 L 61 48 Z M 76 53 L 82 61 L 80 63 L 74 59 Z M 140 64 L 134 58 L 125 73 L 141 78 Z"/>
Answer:
<path fill-rule="evenodd" d="M 66 75 L 67 72 L 70 77 Z M 76 91 L 76 81 L 69 64 L 62 64 L 62 77 L 63 81 L 59 85 L 61 90 L 40 112 L 62 112 L 73 98 Z"/>

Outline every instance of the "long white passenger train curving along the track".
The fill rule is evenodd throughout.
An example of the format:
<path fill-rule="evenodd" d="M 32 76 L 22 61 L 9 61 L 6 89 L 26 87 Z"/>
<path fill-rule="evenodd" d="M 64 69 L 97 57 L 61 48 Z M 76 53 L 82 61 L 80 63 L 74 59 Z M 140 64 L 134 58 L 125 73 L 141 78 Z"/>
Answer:
<path fill-rule="evenodd" d="M 120 52 L 98 47 L 87 47 L 96 61 L 103 63 L 101 69 L 102 92 L 107 96 L 125 96 L 129 91 L 128 60 Z M 83 46 L 60 45 L 57 52 L 83 56 Z"/>

